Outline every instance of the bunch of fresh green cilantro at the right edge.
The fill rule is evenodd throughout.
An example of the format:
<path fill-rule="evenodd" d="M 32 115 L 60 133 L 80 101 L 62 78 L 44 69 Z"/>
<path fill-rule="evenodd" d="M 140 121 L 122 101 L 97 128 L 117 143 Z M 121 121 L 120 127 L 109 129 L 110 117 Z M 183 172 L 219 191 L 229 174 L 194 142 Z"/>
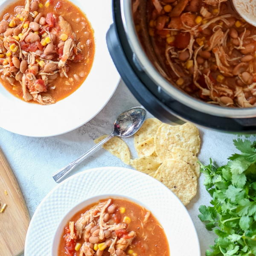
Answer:
<path fill-rule="evenodd" d="M 206 256 L 256 256 L 256 142 L 239 137 L 234 145 L 240 152 L 225 166 L 201 164 L 212 201 L 198 217 L 218 236 Z"/>

